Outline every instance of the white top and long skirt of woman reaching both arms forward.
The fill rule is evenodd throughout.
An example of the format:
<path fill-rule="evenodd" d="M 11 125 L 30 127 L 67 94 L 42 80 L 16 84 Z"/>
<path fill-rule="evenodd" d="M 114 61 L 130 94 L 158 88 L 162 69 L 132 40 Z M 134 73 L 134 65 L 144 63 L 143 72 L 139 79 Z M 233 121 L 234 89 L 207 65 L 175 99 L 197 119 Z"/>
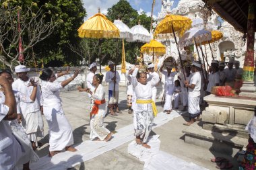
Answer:
<path fill-rule="evenodd" d="M 73 144 L 73 133 L 69 121 L 62 109 L 59 96 L 61 83 L 42 81 L 42 97 L 44 97 L 44 116 L 49 125 L 49 151 L 61 151 Z"/>

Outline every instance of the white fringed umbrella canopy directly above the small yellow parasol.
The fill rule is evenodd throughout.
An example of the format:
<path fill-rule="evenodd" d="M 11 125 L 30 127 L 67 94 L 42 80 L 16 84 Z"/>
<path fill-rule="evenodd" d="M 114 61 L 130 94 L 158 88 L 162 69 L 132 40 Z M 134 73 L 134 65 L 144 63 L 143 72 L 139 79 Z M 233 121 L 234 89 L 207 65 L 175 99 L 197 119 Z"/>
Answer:
<path fill-rule="evenodd" d="M 150 32 L 140 24 L 131 28 L 132 39 L 127 39 L 128 42 L 150 42 Z"/>

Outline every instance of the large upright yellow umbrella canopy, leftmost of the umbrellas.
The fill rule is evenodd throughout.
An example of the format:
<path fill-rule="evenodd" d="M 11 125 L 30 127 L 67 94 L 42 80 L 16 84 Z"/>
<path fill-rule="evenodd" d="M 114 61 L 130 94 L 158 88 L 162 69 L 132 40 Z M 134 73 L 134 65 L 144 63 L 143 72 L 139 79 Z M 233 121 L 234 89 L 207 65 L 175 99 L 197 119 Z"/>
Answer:
<path fill-rule="evenodd" d="M 90 17 L 77 30 L 80 38 L 119 38 L 119 29 L 102 13 Z"/>

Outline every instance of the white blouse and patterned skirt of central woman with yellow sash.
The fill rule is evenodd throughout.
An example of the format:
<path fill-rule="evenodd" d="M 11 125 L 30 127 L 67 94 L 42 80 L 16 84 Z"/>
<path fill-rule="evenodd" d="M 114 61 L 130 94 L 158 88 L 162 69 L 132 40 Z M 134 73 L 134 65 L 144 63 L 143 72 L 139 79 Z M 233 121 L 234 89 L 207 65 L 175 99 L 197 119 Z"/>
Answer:
<path fill-rule="evenodd" d="M 137 71 L 133 71 L 131 77 L 131 83 L 135 91 L 137 99 L 150 100 L 152 99 L 152 87 L 158 83 L 157 77 L 153 77 L 151 81 L 148 81 L 146 85 L 143 85 L 137 81 Z M 143 138 L 143 143 L 148 141 L 148 137 L 152 130 L 154 120 L 154 114 L 152 110 L 152 104 L 135 104 L 135 109 L 133 110 L 133 125 L 135 128 L 135 136 L 140 136 Z"/>

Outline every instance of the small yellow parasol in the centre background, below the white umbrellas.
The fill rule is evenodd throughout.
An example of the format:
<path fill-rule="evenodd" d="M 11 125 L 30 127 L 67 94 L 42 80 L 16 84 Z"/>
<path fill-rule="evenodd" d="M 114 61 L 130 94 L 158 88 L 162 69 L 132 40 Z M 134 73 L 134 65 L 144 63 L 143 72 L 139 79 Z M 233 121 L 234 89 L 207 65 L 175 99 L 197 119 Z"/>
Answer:
<path fill-rule="evenodd" d="M 153 62 L 154 62 L 154 54 L 163 55 L 166 53 L 166 47 L 158 42 L 157 40 L 150 40 L 150 43 L 146 43 L 140 48 L 141 52 L 145 52 L 147 54 L 153 55 Z"/>

